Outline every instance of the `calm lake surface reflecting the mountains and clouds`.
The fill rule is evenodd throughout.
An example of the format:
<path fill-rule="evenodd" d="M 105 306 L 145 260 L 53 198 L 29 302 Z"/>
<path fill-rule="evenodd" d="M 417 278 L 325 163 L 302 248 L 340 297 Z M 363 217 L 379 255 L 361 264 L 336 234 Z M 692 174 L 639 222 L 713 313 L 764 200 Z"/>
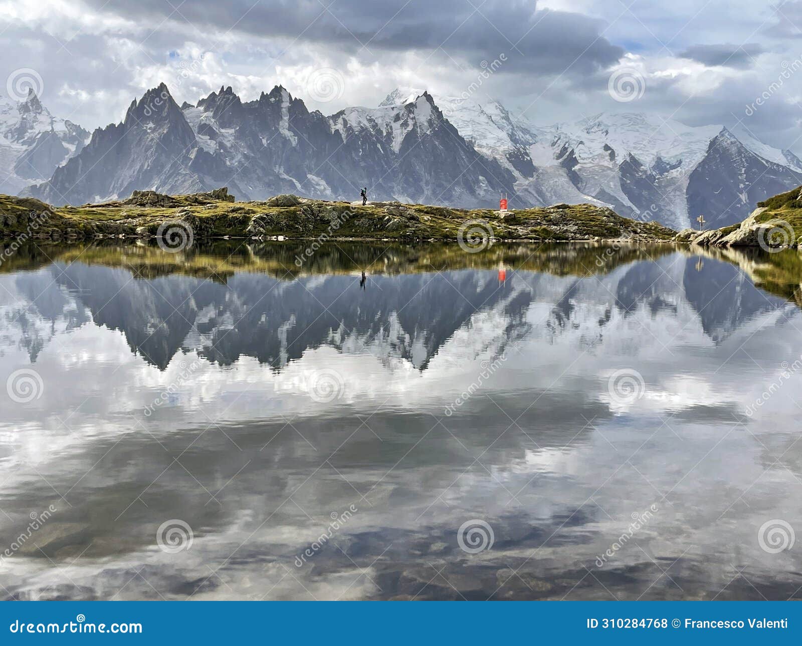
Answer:
<path fill-rule="evenodd" d="M 795 254 L 299 251 L 6 262 L 0 596 L 802 596 Z"/>

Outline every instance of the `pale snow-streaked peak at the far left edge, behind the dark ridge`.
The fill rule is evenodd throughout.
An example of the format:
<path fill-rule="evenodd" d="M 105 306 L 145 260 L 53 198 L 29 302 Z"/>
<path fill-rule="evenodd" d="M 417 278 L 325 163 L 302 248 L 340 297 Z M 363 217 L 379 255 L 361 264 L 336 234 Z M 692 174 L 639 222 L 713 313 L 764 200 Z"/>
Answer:
<path fill-rule="evenodd" d="M 0 96 L 0 193 L 49 179 L 88 139 L 82 127 L 51 115 L 33 90 L 24 101 Z"/>

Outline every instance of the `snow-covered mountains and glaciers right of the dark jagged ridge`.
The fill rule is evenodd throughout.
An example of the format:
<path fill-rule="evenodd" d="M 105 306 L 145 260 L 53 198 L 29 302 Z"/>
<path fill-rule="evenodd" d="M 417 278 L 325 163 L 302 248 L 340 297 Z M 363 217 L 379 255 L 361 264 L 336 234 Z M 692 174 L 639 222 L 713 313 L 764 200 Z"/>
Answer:
<path fill-rule="evenodd" d="M 408 102 L 413 95 L 411 88 L 397 88 L 381 105 Z M 512 173 L 513 208 L 590 202 L 674 228 L 690 226 L 702 213 L 708 222 L 724 225 L 743 220 L 755 201 L 775 194 L 777 186 L 802 182 L 802 162 L 795 155 L 746 131 L 739 131 L 739 143 L 729 155 L 720 155 L 723 126 L 602 113 L 577 123 L 535 127 L 490 99 L 435 96 L 435 102 L 477 151 Z M 727 184 L 726 176 L 739 179 Z M 707 184 L 716 184 L 711 188 L 718 192 L 715 200 L 702 199 Z"/>

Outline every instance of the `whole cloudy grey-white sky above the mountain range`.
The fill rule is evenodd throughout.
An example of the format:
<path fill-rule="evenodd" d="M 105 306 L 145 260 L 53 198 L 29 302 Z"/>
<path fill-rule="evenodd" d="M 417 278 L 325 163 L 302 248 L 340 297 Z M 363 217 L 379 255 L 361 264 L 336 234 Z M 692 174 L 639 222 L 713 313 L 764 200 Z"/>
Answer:
<path fill-rule="evenodd" d="M 0 0 L 0 48 L 0 93 L 89 129 L 162 81 L 326 114 L 472 87 L 536 124 L 650 111 L 802 151 L 802 0 Z"/>

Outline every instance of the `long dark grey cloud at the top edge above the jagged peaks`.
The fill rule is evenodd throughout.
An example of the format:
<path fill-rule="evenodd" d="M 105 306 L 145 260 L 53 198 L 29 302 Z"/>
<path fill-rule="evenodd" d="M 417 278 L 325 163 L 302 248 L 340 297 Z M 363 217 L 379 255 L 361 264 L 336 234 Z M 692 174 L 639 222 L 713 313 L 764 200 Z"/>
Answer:
<path fill-rule="evenodd" d="M 586 74 L 609 67 L 623 55 L 602 34 L 604 23 L 580 14 L 537 10 L 534 0 L 335 0 L 257 2 L 233 0 L 186 2 L 177 10 L 164 0 L 90 0 L 101 13 L 141 22 L 191 26 L 200 42 L 220 34 L 243 32 L 276 39 L 292 49 L 305 43 L 326 44 L 370 60 L 372 55 L 420 50 L 469 63 L 506 53 L 505 71 Z M 211 32 L 211 33 L 210 33 Z M 217 35 L 216 35 L 217 33 Z M 440 51 L 442 50 L 442 51 Z"/>

